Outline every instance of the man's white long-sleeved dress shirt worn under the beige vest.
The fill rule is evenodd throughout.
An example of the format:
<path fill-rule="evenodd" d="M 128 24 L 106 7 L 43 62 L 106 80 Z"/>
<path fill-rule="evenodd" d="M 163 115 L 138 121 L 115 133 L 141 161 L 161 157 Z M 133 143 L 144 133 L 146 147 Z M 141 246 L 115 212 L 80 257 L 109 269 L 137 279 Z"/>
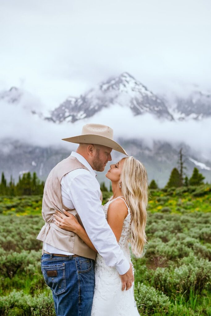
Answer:
<path fill-rule="evenodd" d="M 130 264 L 124 256 L 102 209 L 100 185 L 96 173 L 88 161 L 80 154 L 72 152 L 87 169 L 76 169 L 66 173 L 61 179 L 62 202 L 69 209 L 75 208 L 86 233 L 108 266 L 115 266 L 119 274 L 126 273 Z M 47 243 L 44 250 L 50 253 L 71 255 Z"/>

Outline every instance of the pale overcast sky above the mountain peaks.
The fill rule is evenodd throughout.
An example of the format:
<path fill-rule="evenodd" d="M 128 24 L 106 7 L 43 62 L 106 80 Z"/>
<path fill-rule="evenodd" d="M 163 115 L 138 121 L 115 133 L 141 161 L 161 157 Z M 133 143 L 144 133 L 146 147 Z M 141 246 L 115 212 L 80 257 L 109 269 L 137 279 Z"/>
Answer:
<path fill-rule="evenodd" d="M 210 0 L 0 0 L 0 90 L 48 109 L 123 71 L 153 92 L 209 89 Z"/>

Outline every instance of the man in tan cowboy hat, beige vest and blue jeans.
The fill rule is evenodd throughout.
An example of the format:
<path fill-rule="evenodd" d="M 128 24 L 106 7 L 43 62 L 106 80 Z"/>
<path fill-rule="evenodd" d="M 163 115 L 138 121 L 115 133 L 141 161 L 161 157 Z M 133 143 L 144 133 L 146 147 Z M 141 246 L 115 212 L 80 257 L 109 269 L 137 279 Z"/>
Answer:
<path fill-rule="evenodd" d="M 51 170 L 45 183 L 45 225 L 37 236 L 43 241 L 41 270 L 52 290 L 57 316 L 89 316 L 96 252 L 77 234 L 57 227 L 53 213 L 65 209 L 76 216 L 106 264 L 119 272 L 122 290 L 130 289 L 134 281 L 132 264 L 124 257 L 105 219 L 102 192 L 94 171 L 104 170 L 111 161 L 112 149 L 127 153 L 113 140 L 113 130 L 105 125 L 84 125 L 81 135 L 63 140 L 78 143 L 79 147 Z"/>

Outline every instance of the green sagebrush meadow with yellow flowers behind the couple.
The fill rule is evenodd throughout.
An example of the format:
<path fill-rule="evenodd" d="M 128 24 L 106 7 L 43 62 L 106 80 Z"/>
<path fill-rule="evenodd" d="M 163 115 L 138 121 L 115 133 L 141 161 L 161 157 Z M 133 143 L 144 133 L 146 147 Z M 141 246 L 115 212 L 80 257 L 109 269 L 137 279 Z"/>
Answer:
<path fill-rule="evenodd" d="M 103 202 L 110 197 L 103 192 Z M 0 197 L 0 315 L 55 315 L 36 236 L 42 196 Z M 211 187 L 151 190 L 143 258 L 133 258 L 140 315 L 211 316 Z"/>

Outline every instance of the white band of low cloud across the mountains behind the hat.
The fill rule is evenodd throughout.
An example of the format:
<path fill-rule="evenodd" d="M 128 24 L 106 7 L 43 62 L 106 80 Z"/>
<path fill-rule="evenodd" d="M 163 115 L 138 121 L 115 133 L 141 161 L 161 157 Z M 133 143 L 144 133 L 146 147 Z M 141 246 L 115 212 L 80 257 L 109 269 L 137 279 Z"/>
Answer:
<path fill-rule="evenodd" d="M 31 108 L 30 108 L 31 110 Z M 81 134 L 83 125 L 98 123 L 114 129 L 114 139 L 143 140 L 149 147 L 153 141 L 170 143 L 184 142 L 198 151 L 205 159 L 211 153 L 211 118 L 201 121 L 164 121 L 150 114 L 133 116 L 131 110 L 119 105 L 111 106 L 96 113 L 89 119 L 75 123 L 55 124 L 31 114 L 22 103 L 8 104 L 0 102 L 0 138 L 18 139 L 22 142 L 46 146 L 72 148 L 70 143 L 61 139 Z"/>

